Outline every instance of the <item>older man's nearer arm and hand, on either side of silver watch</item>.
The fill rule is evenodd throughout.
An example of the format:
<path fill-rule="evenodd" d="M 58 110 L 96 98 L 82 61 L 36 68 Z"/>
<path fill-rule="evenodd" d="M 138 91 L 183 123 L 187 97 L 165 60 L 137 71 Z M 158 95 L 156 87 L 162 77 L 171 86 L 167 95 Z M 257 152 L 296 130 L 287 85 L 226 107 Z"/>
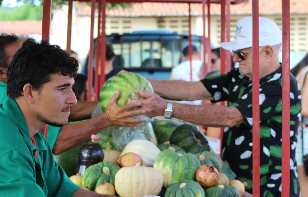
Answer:
<path fill-rule="evenodd" d="M 140 109 L 145 110 L 145 115 L 154 117 L 164 115 L 167 101 L 160 98 L 157 94 L 140 92 L 145 100 L 130 101 L 130 104 L 141 102 Z M 246 120 L 241 112 L 233 106 L 225 107 L 221 105 L 186 105 L 173 102 L 172 117 L 181 119 L 193 124 L 207 127 L 233 127 Z"/>

